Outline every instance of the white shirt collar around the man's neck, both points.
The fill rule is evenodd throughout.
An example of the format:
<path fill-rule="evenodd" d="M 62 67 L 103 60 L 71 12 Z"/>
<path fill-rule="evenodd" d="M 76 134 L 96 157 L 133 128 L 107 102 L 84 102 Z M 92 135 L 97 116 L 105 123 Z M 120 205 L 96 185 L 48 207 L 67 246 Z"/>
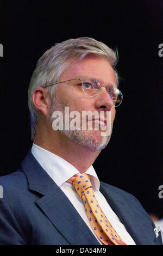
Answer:
<path fill-rule="evenodd" d="M 41 167 L 48 173 L 54 182 L 60 187 L 74 174 L 80 174 L 79 171 L 60 156 L 57 156 L 38 145 L 32 145 L 32 154 Z M 93 166 L 90 166 L 85 174 L 90 174 L 90 180 L 94 191 L 99 191 L 99 179 Z"/>

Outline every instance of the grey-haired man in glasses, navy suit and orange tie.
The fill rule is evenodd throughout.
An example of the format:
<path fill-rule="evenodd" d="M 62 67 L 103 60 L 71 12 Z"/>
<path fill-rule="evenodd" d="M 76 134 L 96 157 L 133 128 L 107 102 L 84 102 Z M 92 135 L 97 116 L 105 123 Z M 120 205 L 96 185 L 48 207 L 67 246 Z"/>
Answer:
<path fill-rule="evenodd" d="M 162 244 L 137 199 L 99 184 L 92 167 L 122 102 L 116 60 L 92 38 L 66 40 L 39 59 L 28 90 L 33 147 L 0 179 L 1 245 Z"/>

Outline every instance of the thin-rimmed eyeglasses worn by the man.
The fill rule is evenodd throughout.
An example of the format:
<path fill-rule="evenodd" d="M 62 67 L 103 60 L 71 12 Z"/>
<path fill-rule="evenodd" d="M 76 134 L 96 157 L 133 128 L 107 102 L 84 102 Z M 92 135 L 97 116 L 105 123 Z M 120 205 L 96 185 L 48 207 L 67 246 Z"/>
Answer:
<path fill-rule="evenodd" d="M 49 86 L 54 86 L 55 84 L 65 83 L 65 82 L 74 81 L 74 80 L 78 80 L 82 82 L 82 83 L 81 82 L 77 83 L 76 86 L 82 86 L 83 92 L 89 97 L 95 97 L 99 92 L 101 92 L 102 87 L 105 87 L 102 84 L 100 84 L 96 79 L 93 80 L 91 78 L 86 78 L 86 79 L 74 78 L 71 80 L 53 83 L 53 84 L 50 84 Z M 49 87 L 49 86 L 46 86 L 46 87 Z M 123 95 L 121 91 L 118 88 L 112 87 L 112 86 L 105 87 L 105 89 L 106 89 L 106 92 L 110 95 L 110 99 L 113 101 L 114 107 L 120 106 L 123 99 Z"/>

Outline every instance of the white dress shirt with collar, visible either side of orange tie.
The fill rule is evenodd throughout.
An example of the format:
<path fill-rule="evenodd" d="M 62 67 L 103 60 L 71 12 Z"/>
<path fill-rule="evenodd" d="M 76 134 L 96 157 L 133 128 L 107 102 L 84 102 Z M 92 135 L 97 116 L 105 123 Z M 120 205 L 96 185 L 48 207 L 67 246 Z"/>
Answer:
<path fill-rule="evenodd" d="M 32 154 L 34 155 L 37 162 L 39 162 L 40 166 L 65 193 L 66 197 L 71 201 L 74 208 L 76 208 L 79 215 L 83 218 L 87 226 L 92 231 L 93 235 L 95 235 L 87 218 L 82 199 L 80 199 L 78 194 L 74 192 L 72 184 L 66 182 L 66 180 L 70 179 L 74 174 L 80 174 L 79 171 L 74 166 L 72 166 L 72 164 L 68 163 L 61 157 L 43 148 L 40 148 L 34 143 L 32 146 Z M 135 245 L 134 240 L 129 235 L 124 225 L 120 222 L 115 212 L 112 211 L 103 194 L 99 191 L 99 179 L 93 166 L 90 166 L 85 173 L 91 175 L 90 180 L 92 183 L 93 191 L 95 192 L 96 199 L 112 227 L 114 227 L 114 229 L 117 231 L 117 234 L 127 245 Z M 98 240 L 96 235 L 95 237 Z M 101 243 L 99 240 L 98 242 Z"/>

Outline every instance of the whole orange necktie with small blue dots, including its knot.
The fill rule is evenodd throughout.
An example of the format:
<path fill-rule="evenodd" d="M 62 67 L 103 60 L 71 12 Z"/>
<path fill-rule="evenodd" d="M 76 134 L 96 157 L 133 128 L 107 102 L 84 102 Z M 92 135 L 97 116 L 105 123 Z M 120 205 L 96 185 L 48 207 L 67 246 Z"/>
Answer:
<path fill-rule="evenodd" d="M 73 184 L 79 197 L 82 198 L 86 215 L 98 239 L 104 245 L 126 245 L 99 206 L 89 176 L 89 174 L 74 175 L 67 182 Z"/>

